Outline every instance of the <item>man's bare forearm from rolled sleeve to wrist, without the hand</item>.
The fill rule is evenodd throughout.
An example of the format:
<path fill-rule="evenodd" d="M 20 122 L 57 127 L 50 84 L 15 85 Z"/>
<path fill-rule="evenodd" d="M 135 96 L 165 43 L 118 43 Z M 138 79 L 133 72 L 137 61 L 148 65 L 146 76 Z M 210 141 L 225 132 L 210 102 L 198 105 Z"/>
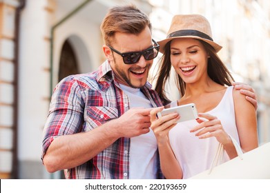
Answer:
<path fill-rule="evenodd" d="M 120 137 L 114 132 L 115 122 L 109 121 L 89 132 L 57 136 L 44 155 L 46 170 L 56 172 L 92 159 Z"/>

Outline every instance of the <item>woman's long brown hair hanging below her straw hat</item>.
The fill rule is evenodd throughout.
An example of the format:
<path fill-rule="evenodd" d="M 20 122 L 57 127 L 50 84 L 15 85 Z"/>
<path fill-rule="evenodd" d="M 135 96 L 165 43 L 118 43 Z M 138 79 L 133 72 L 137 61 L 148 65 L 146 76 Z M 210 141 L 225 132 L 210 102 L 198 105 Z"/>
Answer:
<path fill-rule="evenodd" d="M 207 73 L 209 77 L 215 81 L 215 83 L 218 83 L 220 85 L 231 85 L 232 81 L 234 81 L 231 72 L 229 72 L 228 68 L 226 68 L 226 65 L 221 61 L 220 57 L 218 57 L 218 54 L 215 52 L 214 48 L 204 41 L 201 41 L 198 39 L 204 46 L 204 49 L 206 52 L 209 53 L 209 60 L 207 64 Z M 155 90 L 160 95 L 160 99 L 162 99 L 164 104 L 170 103 L 171 101 L 168 99 L 166 95 L 165 90 L 165 84 L 166 81 L 168 81 L 168 78 L 170 76 L 171 72 L 171 41 L 166 43 L 165 45 L 165 52 L 161 59 L 161 65 L 157 71 L 157 81 L 155 84 Z M 186 89 L 186 83 L 181 79 L 181 77 L 175 73 L 175 83 L 177 86 L 177 89 L 180 92 L 180 96 L 183 96 Z"/>

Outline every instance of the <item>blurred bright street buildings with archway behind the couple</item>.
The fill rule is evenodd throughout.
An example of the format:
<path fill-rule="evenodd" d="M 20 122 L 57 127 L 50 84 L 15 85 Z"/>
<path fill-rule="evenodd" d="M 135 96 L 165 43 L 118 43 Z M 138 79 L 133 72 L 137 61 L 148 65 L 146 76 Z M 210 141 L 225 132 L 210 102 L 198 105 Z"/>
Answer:
<path fill-rule="evenodd" d="M 108 8 L 126 3 L 149 14 L 157 41 L 173 14 L 209 19 L 213 39 L 224 46 L 220 57 L 237 80 L 255 88 L 259 140 L 270 141 L 269 1 L 0 0 L 0 179 L 61 178 L 48 174 L 40 159 L 52 89 L 104 61 L 100 23 Z"/>

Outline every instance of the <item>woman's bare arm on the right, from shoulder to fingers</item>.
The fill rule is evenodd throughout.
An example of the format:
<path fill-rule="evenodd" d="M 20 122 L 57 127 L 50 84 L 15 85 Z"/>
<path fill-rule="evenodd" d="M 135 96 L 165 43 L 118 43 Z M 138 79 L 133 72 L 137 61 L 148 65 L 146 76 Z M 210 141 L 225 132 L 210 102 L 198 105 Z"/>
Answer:
<path fill-rule="evenodd" d="M 233 89 L 233 101 L 235 105 L 235 124 L 238 129 L 241 148 L 244 152 L 253 150 L 258 147 L 255 108 L 252 103 L 247 101 L 246 96 L 235 88 Z M 195 135 L 200 139 L 215 136 L 224 145 L 224 150 L 226 150 L 229 158 L 235 158 L 237 152 L 229 134 L 224 131 L 221 121 L 211 114 L 199 113 L 198 116 L 206 119 L 206 121 L 197 119 L 200 124 L 195 126 L 191 132 L 196 132 Z"/>

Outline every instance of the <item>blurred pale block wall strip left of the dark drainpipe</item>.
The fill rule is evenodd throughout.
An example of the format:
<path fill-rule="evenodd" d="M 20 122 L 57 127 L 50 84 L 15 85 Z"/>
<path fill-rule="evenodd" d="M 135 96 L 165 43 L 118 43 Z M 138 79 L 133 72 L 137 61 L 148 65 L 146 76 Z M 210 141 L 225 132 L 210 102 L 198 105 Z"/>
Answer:
<path fill-rule="evenodd" d="M 15 13 L 18 1 L 0 2 L 0 179 L 15 159 Z"/>

